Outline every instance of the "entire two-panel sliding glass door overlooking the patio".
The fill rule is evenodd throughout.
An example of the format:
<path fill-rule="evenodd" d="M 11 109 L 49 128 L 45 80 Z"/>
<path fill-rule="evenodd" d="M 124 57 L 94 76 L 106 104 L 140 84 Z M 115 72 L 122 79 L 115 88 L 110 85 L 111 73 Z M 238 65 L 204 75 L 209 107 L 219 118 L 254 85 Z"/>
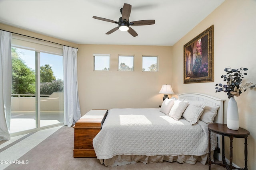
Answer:
<path fill-rule="evenodd" d="M 62 56 L 12 47 L 10 133 L 63 124 Z"/>

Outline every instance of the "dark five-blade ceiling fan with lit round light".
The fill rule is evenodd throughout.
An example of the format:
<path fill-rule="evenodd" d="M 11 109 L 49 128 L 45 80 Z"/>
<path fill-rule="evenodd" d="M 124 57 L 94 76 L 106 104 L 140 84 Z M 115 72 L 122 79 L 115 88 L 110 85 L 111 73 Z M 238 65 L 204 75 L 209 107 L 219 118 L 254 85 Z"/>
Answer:
<path fill-rule="evenodd" d="M 122 14 L 122 17 L 119 18 L 118 22 L 109 20 L 106 18 L 101 18 L 101 17 L 96 17 L 93 16 L 92 18 L 97 19 L 97 20 L 102 20 L 102 21 L 107 21 L 107 22 L 112 22 L 118 24 L 118 27 L 115 27 L 108 31 L 106 34 L 111 34 L 114 31 L 120 29 L 121 31 L 127 31 L 130 33 L 132 36 L 136 37 L 138 34 L 134 29 L 132 29 L 129 26 L 135 26 L 135 25 L 152 25 L 155 24 L 155 20 L 140 20 L 140 21 L 129 21 L 129 17 L 131 14 L 132 6 L 130 4 L 124 4 L 123 8 L 120 9 L 120 12 Z"/>

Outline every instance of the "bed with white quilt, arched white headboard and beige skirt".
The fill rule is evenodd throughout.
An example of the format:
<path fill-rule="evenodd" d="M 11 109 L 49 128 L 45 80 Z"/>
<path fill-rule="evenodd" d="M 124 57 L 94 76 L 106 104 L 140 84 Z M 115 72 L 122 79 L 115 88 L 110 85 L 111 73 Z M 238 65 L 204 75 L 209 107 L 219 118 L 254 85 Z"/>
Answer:
<path fill-rule="evenodd" d="M 110 109 L 101 131 L 93 139 L 100 163 L 109 167 L 163 161 L 190 164 L 199 161 L 206 164 L 208 123 L 200 117 L 206 107 L 216 107 L 214 122 L 223 123 L 223 100 L 205 94 L 186 93 L 178 95 L 178 99 L 166 101 L 169 102 L 165 108 Z M 164 109 L 170 103 L 172 107 L 167 114 Z M 180 118 L 176 117 L 176 113 L 180 112 L 177 103 L 187 105 Z M 194 116 L 199 112 L 200 115 Z M 211 134 L 212 158 L 216 147 L 220 147 L 220 139 Z"/>

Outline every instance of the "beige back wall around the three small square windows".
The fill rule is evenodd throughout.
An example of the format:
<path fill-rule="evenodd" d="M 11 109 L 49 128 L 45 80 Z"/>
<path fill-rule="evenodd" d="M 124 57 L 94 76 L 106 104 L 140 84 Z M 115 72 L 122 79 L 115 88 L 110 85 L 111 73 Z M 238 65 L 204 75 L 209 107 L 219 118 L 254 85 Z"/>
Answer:
<path fill-rule="evenodd" d="M 172 47 L 79 45 L 78 93 L 81 114 L 90 109 L 159 108 L 162 84 L 172 84 Z M 110 71 L 93 71 L 93 54 L 110 54 Z M 134 55 L 134 71 L 117 71 L 118 55 Z M 142 72 L 142 55 L 158 56 L 158 72 Z"/>

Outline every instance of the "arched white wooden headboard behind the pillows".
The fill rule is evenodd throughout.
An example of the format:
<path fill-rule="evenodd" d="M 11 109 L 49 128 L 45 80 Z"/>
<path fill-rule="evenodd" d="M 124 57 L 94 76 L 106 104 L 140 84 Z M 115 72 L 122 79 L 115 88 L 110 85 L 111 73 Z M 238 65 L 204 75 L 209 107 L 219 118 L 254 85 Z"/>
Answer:
<path fill-rule="evenodd" d="M 207 94 L 200 93 L 184 93 L 178 95 L 179 99 L 187 99 L 187 100 L 196 100 L 196 101 L 204 101 L 209 106 L 217 106 L 220 105 L 218 109 L 218 114 L 216 115 L 214 122 L 215 123 L 223 123 L 223 102 L 225 100 L 216 98 L 214 96 L 210 96 Z M 218 148 L 222 148 L 222 137 L 218 135 Z M 217 155 L 218 160 L 222 160 L 222 150 L 220 150 L 220 154 Z"/>

